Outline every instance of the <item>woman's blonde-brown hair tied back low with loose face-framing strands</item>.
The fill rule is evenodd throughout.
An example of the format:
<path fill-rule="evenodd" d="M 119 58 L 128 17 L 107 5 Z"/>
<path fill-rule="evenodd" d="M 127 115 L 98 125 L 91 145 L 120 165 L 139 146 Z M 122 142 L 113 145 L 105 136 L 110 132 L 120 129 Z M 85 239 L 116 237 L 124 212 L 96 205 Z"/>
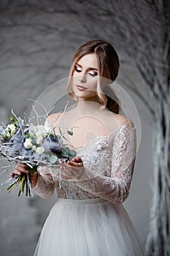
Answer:
<path fill-rule="evenodd" d="M 109 84 L 108 81 L 110 80 L 110 83 L 114 81 L 117 78 L 118 71 L 119 71 L 119 57 L 117 56 L 117 53 L 112 45 L 109 44 L 109 42 L 104 42 L 102 40 L 94 39 L 90 40 L 88 42 L 85 42 L 83 45 L 81 45 L 79 48 L 77 48 L 73 59 L 72 59 L 72 66 L 70 68 L 69 72 L 69 81 L 67 86 L 67 91 L 71 97 L 76 99 L 74 92 L 72 91 L 72 75 L 74 72 L 74 66 L 77 64 L 77 61 L 79 61 L 82 56 L 88 55 L 90 53 L 96 53 L 97 61 L 98 61 L 98 68 L 99 68 L 99 83 L 97 85 L 97 95 L 98 100 L 101 102 L 102 105 L 107 107 L 110 111 L 114 113 L 119 113 L 120 106 L 119 106 L 119 100 L 117 99 L 115 93 L 115 99 L 112 99 L 104 94 L 104 92 L 101 90 L 101 87 L 103 88 L 104 84 Z M 104 79 L 106 78 L 106 80 Z M 102 86 L 101 86 L 102 85 Z M 112 90 L 112 89 L 111 89 Z"/>

